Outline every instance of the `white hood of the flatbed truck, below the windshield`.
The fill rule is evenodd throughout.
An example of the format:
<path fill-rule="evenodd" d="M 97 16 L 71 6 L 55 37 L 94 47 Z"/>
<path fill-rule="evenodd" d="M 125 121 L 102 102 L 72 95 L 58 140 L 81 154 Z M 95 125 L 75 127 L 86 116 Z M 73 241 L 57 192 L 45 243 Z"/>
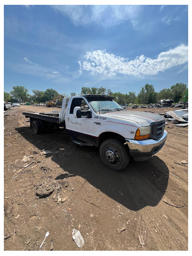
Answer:
<path fill-rule="evenodd" d="M 150 113 L 150 112 L 143 112 L 143 111 L 130 111 L 130 110 L 122 110 L 122 111 L 113 111 L 113 112 L 107 112 L 104 114 L 105 116 L 115 117 L 121 120 L 130 120 L 137 122 L 141 126 L 148 126 L 152 122 L 156 122 L 162 119 L 165 119 L 164 117 Z"/>

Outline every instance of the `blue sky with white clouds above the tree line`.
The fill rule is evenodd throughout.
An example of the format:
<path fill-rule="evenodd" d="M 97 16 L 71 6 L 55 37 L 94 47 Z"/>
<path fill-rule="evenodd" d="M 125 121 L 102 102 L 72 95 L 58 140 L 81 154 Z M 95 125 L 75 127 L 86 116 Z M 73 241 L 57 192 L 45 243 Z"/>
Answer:
<path fill-rule="evenodd" d="M 188 85 L 187 5 L 5 5 L 4 91 Z"/>

